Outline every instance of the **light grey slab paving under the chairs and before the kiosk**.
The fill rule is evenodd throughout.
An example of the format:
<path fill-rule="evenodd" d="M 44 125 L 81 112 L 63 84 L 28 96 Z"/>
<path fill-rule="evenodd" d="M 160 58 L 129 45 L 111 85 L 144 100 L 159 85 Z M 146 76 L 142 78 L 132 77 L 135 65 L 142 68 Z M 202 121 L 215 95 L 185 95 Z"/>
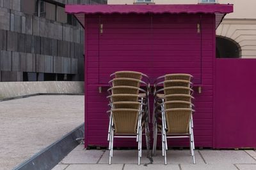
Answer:
<path fill-rule="evenodd" d="M 254 150 L 196 150 L 196 164 L 192 163 L 189 150 L 168 150 L 167 163 L 157 150 L 153 162 L 147 159 L 143 151 L 141 165 L 138 166 L 137 150 L 114 150 L 112 165 L 108 165 L 108 150 L 85 150 L 83 145 L 77 146 L 67 157 L 56 165 L 53 170 L 83 170 L 83 169 L 224 169 L 224 170 L 255 170 L 256 152 Z"/>

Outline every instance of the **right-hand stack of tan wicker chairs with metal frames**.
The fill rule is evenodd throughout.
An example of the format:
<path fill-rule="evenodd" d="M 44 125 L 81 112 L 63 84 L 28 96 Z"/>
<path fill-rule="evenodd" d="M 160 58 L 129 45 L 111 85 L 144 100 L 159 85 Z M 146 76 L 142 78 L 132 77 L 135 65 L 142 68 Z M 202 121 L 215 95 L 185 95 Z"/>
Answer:
<path fill-rule="evenodd" d="M 157 135 L 161 135 L 164 164 L 168 138 L 189 138 L 190 153 L 195 164 L 192 78 L 190 74 L 166 74 L 154 83 L 153 155 L 156 155 Z"/>

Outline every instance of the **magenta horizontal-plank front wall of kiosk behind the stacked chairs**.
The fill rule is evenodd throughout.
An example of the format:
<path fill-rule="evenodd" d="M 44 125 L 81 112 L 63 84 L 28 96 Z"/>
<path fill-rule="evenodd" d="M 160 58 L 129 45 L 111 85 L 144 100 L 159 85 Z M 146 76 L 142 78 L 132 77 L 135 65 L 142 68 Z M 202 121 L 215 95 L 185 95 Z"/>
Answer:
<path fill-rule="evenodd" d="M 148 74 L 152 81 L 166 73 L 193 74 L 202 85 L 202 94 L 195 92 L 195 144 L 212 147 L 214 15 L 87 15 L 85 31 L 86 146 L 108 146 L 108 93 L 99 93 L 98 85 L 108 83 L 115 71 L 132 70 Z M 189 146 L 183 139 L 170 145 Z M 136 143 L 116 139 L 115 146 Z"/>

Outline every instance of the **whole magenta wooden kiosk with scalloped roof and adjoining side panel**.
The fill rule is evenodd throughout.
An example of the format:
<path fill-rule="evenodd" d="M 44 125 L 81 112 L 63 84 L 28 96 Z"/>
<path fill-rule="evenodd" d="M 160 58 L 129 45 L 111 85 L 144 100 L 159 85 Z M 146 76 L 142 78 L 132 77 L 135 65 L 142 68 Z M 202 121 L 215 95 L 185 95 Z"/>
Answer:
<path fill-rule="evenodd" d="M 253 121 L 239 124 L 246 102 L 233 95 L 236 80 L 245 78 L 239 73 L 227 72 L 229 66 L 244 70 L 246 63 L 252 68 L 256 62 L 215 57 L 215 31 L 223 17 L 233 11 L 231 4 L 67 5 L 66 11 L 76 15 L 85 31 L 86 147 L 108 146 L 109 75 L 130 70 L 147 74 L 152 82 L 166 73 L 193 74 L 196 146 L 256 148 L 256 135 L 247 135 L 250 129 L 256 128 Z M 255 75 L 255 71 L 250 72 L 250 76 Z M 242 96 L 253 99 L 254 94 Z M 232 101 L 243 104 L 238 105 L 237 110 L 230 106 Z M 255 120 L 253 104 L 248 104 L 246 116 Z M 188 142 L 177 139 L 171 145 L 188 146 Z M 115 146 L 136 146 L 136 143 L 116 139 Z"/>

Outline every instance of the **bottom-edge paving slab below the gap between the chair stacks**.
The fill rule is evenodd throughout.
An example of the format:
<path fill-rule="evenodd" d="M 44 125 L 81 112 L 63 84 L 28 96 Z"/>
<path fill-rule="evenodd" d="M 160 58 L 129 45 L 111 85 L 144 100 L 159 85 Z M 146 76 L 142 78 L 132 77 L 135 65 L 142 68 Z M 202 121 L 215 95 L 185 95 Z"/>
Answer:
<path fill-rule="evenodd" d="M 150 165 L 147 165 L 147 166 L 145 166 L 145 165 L 140 165 L 140 166 L 138 166 L 138 165 L 134 165 L 134 164 L 125 164 L 125 166 L 124 166 L 124 169 L 126 169 L 126 170 L 137 170 L 137 169 L 141 169 L 141 170 L 144 170 L 144 169 L 147 169 L 147 170 L 156 170 L 156 169 L 161 169 L 161 170 L 170 170 L 170 169 L 172 169 L 172 170 L 180 170 L 180 168 L 179 168 L 179 165 L 177 164 L 177 165 L 153 165 L 153 164 L 150 164 Z"/>

